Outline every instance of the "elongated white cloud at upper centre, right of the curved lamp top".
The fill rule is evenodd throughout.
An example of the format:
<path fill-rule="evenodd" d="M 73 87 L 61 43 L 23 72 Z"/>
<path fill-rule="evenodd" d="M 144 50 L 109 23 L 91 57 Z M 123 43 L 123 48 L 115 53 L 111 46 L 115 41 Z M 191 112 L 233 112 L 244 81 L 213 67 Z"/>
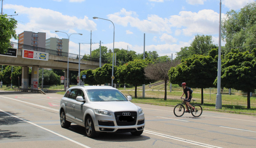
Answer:
<path fill-rule="evenodd" d="M 140 20 L 136 12 L 126 11 L 125 9 L 120 12 L 107 15 L 110 20 L 115 24 L 126 27 L 128 23 L 131 27 L 136 27 L 142 32 L 146 33 L 171 33 L 170 24 L 167 18 L 161 18 L 157 15 L 148 15 L 147 19 Z"/>

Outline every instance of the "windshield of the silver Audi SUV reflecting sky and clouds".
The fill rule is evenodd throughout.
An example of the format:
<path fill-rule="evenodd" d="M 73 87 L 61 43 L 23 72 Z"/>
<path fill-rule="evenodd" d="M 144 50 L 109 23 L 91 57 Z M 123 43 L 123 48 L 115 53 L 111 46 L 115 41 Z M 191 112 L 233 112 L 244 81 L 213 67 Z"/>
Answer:
<path fill-rule="evenodd" d="M 86 91 L 90 101 L 128 101 L 125 96 L 115 89 L 89 89 Z"/>

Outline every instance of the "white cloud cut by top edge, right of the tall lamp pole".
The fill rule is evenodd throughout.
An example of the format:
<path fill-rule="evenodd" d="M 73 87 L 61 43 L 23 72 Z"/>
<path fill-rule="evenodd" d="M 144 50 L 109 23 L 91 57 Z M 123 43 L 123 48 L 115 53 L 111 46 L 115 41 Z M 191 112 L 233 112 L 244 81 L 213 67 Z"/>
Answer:
<path fill-rule="evenodd" d="M 254 2 L 255 0 L 223 0 L 222 4 L 230 10 L 238 10 L 243 8 L 247 3 Z"/>

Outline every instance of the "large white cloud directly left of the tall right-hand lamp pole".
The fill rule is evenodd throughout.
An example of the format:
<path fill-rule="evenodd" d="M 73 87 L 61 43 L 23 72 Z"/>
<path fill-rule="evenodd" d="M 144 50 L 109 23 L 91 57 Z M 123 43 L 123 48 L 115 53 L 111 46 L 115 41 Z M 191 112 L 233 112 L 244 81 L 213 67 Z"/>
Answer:
<path fill-rule="evenodd" d="M 224 14 L 222 15 L 224 16 Z M 181 11 L 179 15 L 170 17 L 173 27 L 181 28 L 184 35 L 218 33 L 219 14 L 213 10 L 200 10 L 198 13 Z"/>

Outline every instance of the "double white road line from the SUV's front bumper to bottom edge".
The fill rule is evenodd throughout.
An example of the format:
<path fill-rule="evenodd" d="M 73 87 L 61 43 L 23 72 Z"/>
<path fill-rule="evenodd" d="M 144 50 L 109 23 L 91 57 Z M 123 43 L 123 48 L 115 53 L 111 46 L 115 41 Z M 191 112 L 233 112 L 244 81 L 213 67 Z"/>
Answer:
<path fill-rule="evenodd" d="M 192 141 L 192 140 L 188 140 L 188 139 L 183 139 L 183 138 L 179 138 L 179 137 L 174 137 L 174 136 L 170 136 L 170 135 L 165 135 L 165 134 L 161 134 L 161 133 L 156 133 L 156 132 L 152 132 L 152 131 L 147 131 L 147 130 L 145 130 L 145 129 L 144 129 L 143 132 L 148 133 L 148 134 L 152 134 L 152 135 L 157 135 L 157 136 L 169 138 L 169 139 L 173 139 L 173 140 L 178 140 L 178 141 L 185 142 L 185 143 L 189 143 L 189 144 L 194 144 L 194 145 L 202 146 L 202 147 L 221 148 L 221 147 L 218 147 L 218 146 L 213 146 L 213 145 L 209 145 L 209 144 L 204 144 L 204 143 L 200 143 L 200 142 L 196 142 L 196 141 Z"/>

